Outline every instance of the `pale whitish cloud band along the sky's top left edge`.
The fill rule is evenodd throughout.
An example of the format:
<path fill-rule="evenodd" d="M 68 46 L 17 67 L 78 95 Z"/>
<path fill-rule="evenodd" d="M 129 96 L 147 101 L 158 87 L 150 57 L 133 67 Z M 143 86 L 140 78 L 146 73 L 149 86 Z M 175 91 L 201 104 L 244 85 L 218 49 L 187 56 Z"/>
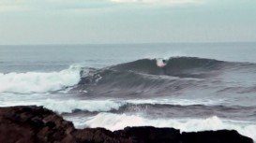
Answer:
<path fill-rule="evenodd" d="M 115 4 L 187 4 L 202 0 L 0 0 L 0 12 L 31 9 L 91 9 L 114 7 Z"/>

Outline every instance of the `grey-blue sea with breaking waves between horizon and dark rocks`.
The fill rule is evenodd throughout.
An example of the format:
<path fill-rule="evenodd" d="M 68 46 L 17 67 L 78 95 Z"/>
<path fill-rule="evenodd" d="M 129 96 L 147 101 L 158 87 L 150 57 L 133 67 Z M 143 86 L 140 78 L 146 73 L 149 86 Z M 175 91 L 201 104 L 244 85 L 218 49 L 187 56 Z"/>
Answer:
<path fill-rule="evenodd" d="M 256 140 L 256 43 L 2 45 L 0 107 L 27 105 L 77 128 L 234 129 Z"/>

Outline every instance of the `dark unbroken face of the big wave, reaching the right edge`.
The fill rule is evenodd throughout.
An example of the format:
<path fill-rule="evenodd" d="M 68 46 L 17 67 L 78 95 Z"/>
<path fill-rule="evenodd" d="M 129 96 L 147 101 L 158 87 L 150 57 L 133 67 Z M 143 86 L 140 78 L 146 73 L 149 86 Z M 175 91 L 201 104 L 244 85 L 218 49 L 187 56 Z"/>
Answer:
<path fill-rule="evenodd" d="M 221 93 L 229 88 L 245 93 L 253 93 L 255 90 L 253 86 L 232 85 L 233 80 L 237 85 L 241 80 L 235 75 L 236 71 L 250 72 L 242 70 L 255 69 L 255 64 L 193 57 L 170 58 L 164 67 L 158 67 L 157 63 L 156 59 L 143 59 L 102 69 L 89 69 L 89 72 L 86 69 L 86 72 L 81 71 L 82 78 L 73 91 L 86 91 L 87 95 L 124 97 L 165 96 L 200 90 L 205 93 Z M 234 76 L 228 78 L 232 74 Z M 251 72 L 250 75 L 255 77 Z"/>

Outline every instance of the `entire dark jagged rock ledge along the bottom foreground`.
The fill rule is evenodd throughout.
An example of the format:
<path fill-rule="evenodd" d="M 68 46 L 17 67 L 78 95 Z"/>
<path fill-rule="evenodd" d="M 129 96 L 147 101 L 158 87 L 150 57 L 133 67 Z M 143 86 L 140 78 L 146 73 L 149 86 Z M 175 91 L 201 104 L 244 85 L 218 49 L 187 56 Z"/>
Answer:
<path fill-rule="evenodd" d="M 182 133 L 173 128 L 77 130 L 43 107 L 0 107 L 0 143 L 253 143 L 236 131 Z"/>

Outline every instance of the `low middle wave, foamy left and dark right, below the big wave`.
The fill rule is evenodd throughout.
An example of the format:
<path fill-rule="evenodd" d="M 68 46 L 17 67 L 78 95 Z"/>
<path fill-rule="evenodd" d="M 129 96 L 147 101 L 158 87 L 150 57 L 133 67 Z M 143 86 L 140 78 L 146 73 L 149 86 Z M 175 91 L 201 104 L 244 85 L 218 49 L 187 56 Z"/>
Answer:
<path fill-rule="evenodd" d="M 187 118 L 187 117 L 209 117 L 218 116 L 223 119 L 235 119 L 244 121 L 254 121 L 256 107 L 233 107 L 221 106 L 221 103 L 203 103 L 200 101 L 191 101 L 188 103 L 177 103 L 176 101 L 143 101 L 138 102 L 130 100 L 113 99 L 38 99 L 37 101 L 9 101 L 0 102 L 0 107 L 37 105 L 47 107 L 59 114 L 96 114 L 99 112 L 111 113 L 134 113 L 145 114 L 149 117 L 159 116 L 162 118 Z M 189 101 L 188 101 L 189 102 Z M 182 105 L 184 104 L 184 105 Z M 239 112 L 240 117 L 237 117 Z"/>

